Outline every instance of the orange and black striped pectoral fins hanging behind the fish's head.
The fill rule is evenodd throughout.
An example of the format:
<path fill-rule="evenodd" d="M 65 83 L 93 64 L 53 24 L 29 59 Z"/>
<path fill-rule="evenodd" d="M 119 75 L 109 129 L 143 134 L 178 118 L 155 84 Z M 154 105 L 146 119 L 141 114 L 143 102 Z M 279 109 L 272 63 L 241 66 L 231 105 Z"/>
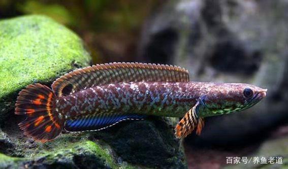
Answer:
<path fill-rule="evenodd" d="M 185 138 L 195 129 L 197 134 L 201 133 L 201 130 L 204 127 L 204 119 L 198 117 L 200 106 L 201 102 L 197 102 L 179 121 L 175 127 L 176 138 Z"/>

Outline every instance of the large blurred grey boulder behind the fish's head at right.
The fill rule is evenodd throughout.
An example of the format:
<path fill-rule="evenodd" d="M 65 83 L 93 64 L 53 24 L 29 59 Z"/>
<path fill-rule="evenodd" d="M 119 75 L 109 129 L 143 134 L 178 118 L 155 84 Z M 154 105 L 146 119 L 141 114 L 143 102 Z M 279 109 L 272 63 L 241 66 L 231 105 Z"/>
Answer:
<path fill-rule="evenodd" d="M 191 81 L 268 89 L 245 112 L 206 118 L 190 142 L 235 145 L 288 119 L 287 10 L 287 1 L 172 0 L 147 21 L 139 60 L 186 67 Z"/>

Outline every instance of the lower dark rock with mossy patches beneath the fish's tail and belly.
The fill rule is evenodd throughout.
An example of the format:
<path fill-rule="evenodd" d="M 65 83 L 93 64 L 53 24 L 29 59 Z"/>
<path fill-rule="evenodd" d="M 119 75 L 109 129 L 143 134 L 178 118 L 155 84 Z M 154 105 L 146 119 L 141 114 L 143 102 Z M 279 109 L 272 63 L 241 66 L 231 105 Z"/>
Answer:
<path fill-rule="evenodd" d="M 159 118 L 125 122 L 104 131 L 62 133 L 42 144 L 23 136 L 14 122 L 0 133 L 6 138 L 0 168 L 187 168 L 172 126 L 171 120 Z"/>

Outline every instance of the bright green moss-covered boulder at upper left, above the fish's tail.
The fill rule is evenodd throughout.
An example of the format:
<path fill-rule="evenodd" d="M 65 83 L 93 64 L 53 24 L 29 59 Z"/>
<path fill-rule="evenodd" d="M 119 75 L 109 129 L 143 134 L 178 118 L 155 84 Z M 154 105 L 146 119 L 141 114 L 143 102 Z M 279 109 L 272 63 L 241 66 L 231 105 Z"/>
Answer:
<path fill-rule="evenodd" d="M 91 60 L 74 32 L 44 16 L 0 21 L 0 44 L 0 121 L 26 85 L 50 84 Z"/>

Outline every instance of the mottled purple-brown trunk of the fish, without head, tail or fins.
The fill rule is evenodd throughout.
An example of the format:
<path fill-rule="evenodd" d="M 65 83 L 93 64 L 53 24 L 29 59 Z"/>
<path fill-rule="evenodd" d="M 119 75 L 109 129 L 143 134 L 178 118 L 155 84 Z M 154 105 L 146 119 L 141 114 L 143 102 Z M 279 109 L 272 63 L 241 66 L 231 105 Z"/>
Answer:
<path fill-rule="evenodd" d="M 129 82 L 86 88 L 59 97 L 57 107 L 66 119 L 102 113 L 135 113 L 183 117 L 200 93 L 193 82 Z"/>

